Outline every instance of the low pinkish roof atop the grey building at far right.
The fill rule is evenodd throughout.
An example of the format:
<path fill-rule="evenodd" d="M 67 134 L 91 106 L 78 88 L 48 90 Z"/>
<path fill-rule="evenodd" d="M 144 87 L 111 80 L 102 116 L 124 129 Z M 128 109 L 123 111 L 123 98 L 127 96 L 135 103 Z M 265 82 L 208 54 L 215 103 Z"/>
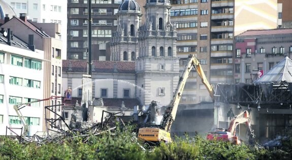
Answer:
<path fill-rule="evenodd" d="M 247 30 L 238 36 L 261 36 L 261 35 L 281 35 L 281 34 L 292 34 L 292 28 Z"/>

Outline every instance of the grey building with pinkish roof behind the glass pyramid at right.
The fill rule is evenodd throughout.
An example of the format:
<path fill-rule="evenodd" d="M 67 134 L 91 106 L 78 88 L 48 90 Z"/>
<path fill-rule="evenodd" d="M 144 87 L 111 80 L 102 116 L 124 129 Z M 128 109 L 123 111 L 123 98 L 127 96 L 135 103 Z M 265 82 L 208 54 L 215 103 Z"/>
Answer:
<path fill-rule="evenodd" d="M 247 30 L 235 37 L 235 83 L 252 83 L 285 56 L 292 57 L 292 29 Z M 278 71 L 281 72 L 281 71 Z"/>

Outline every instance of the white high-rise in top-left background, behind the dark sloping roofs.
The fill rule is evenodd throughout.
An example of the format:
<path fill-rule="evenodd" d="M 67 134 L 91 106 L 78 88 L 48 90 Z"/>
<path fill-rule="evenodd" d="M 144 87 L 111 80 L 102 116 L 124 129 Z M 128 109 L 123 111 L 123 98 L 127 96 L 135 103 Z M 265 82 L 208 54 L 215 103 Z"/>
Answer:
<path fill-rule="evenodd" d="M 14 10 L 17 17 L 26 13 L 27 19 L 39 23 L 59 23 L 63 41 L 62 59 L 67 57 L 67 1 L 58 0 L 5 0 Z"/>

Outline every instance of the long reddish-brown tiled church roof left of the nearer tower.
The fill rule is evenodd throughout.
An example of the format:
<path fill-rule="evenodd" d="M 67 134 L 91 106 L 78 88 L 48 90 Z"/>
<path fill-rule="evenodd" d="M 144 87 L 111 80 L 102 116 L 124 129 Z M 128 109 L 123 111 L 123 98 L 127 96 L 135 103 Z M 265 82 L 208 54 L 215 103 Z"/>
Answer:
<path fill-rule="evenodd" d="M 92 61 L 92 72 L 135 73 L 135 61 Z M 62 61 L 63 72 L 86 72 L 86 60 L 66 59 Z"/>

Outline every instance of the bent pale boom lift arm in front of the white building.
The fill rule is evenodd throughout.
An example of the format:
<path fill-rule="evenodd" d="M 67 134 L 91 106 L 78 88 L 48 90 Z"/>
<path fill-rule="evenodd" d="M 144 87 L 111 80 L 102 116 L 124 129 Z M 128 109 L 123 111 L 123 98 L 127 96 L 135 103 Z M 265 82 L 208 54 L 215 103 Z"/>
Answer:
<path fill-rule="evenodd" d="M 22 115 L 22 113 L 20 112 L 20 109 L 22 109 L 26 106 L 29 106 L 31 103 L 37 103 L 37 102 L 47 101 L 47 100 L 52 100 L 52 99 L 57 99 L 57 98 L 62 98 L 62 97 L 51 96 L 50 98 L 47 98 L 47 99 L 26 102 L 26 103 L 22 103 L 22 104 L 18 104 L 18 105 L 13 106 L 18 118 L 20 119 L 21 123 L 23 124 L 24 131 L 22 132 L 22 135 L 21 135 L 22 138 L 24 138 L 27 135 L 27 133 L 29 132 L 29 124 L 26 123 L 26 120 L 25 120 L 24 116 Z"/>

